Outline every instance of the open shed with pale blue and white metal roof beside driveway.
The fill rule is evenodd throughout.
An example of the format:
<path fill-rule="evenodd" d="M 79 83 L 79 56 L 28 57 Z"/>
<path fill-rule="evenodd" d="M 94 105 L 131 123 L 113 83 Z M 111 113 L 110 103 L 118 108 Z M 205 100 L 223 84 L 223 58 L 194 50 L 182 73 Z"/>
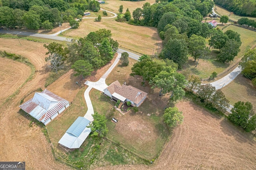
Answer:
<path fill-rule="evenodd" d="M 76 121 L 68 128 L 66 133 L 58 142 L 60 145 L 69 149 L 80 148 L 82 143 L 91 132 L 91 129 L 86 127 L 90 121 L 84 117 L 78 117 Z"/>

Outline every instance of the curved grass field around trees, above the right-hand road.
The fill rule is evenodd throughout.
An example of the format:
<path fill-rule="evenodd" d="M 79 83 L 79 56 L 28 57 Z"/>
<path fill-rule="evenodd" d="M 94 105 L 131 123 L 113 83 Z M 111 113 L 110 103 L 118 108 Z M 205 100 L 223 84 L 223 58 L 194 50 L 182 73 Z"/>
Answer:
<path fill-rule="evenodd" d="M 246 53 L 246 51 L 249 50 L 256 43 L 256 32 L 242 27 L 237 27 L 235 25 L 229 25 L 228 27 L 223 29 L 223 32 L 227 30 L 235 31 L 239 33 L 241 37 L 242 45 L 240 46 L 240 52 L 234 59 L 234 63 L 236 63 L 236 61 L 240 59 L 244 55 L 244 53 Z M 218 55 L 218 49 L 211 48 L 210 50 L 210 59 L 200 59 L 196 68 L 194 68 L 196 66 L 194 59 L 192 57 L 189 57 L 188 60 L 190 69 L 192 69 L 193 72 L 195 74 L 198 74 L 201 78 L 209 77 L 214 71 L 220 73 L 229 68 L 233 63 L 220 63 L 216 59 L 216 56 Z"/>

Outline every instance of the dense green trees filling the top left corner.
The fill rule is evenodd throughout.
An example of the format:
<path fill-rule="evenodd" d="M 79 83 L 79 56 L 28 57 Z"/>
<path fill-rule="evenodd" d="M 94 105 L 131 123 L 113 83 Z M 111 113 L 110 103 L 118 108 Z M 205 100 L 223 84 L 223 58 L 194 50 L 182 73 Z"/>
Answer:
<path fill-rule="evenodd" d="M 74 18 L 82 18 L 85 10 L 98 12 L 100 4 L 95 0 L 1 0 L 0 26 L 7 28 L 52 29 L 70 22 L 77 27 Z"/>

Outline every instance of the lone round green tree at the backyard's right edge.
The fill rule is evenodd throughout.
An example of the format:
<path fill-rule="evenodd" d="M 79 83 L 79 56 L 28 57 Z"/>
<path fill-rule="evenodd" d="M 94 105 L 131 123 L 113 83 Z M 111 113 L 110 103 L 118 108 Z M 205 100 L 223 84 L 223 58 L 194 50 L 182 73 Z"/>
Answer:
<path fill-rule="evenodd" d="M 168 107 L 164 111 L 164 123 L 169 127 L 176 127 L 183 122 L 182 111 L 179 111 L 177 107 Z"/>

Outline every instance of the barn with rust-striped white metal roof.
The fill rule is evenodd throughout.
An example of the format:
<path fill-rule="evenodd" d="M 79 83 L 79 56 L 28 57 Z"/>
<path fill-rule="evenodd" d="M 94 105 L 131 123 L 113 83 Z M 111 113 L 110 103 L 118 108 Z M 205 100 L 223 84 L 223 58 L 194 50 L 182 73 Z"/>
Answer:
<path fill-rule="evenodd" d="M 69 102 L 56 94 L 44 90 L 19 107 L 26 113 L 47 125 L 69 106 Z"/>

